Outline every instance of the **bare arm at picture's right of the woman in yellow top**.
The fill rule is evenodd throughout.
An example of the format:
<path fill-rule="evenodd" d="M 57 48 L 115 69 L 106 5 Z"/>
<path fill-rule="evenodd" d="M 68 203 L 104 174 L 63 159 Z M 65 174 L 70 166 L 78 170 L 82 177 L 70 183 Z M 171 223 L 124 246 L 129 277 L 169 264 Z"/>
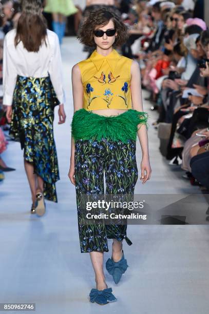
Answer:
<path fill-rule="evenodd" d="M 144 111 L 142 105 L 142 90 L 141 90 L 141 75 L 139 64 L 136 61 L 132 61 L 131 64 L 131 81 L 130 81 L 130 90 L 131 90 L 131 100 L 132 100 L 132 109 L 137 111 Z M 142 163 L 141 171 L 143 183 L 145 183 L 151 175 L 151 168 L 149 164 L 149 151 L 148 151 L 148 135 L 145 124 L 139 124 L 138 128 L 138 137 L 142 149 Z M 146 175 L 144 173 L 146 170 Z"/>

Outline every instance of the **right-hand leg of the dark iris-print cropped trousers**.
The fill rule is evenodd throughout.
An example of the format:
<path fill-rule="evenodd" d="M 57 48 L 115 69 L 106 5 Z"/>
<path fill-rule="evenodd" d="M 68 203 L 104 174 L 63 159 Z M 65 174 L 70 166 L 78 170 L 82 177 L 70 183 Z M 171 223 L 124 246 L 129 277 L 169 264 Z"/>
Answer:
<path fill-rule="evenodd" d="M 105 179 L 108 199 L 114 201 L 128 202 L 132 200 L 134 188 L 138 179 L 138 169 L 136 162 L 136 141 L 129 140 L 127 144 L 116 141 L 107 143 L 108 153 L 105 159 Z M 119 199 L 120 196 L 120 199 Z M 113 212 L 116 212 L 116 208 Z M 127 209 L 119 209 L 121 213 L 127 213 Z M 124 211 L 124 212 L 123 212 Z M 118 212 L 118 210 L 117 210 Z M 128 245 L 132 242 L 126 236 L 127 224 L 106 225 L 107 238 L 126 240 Z"/>

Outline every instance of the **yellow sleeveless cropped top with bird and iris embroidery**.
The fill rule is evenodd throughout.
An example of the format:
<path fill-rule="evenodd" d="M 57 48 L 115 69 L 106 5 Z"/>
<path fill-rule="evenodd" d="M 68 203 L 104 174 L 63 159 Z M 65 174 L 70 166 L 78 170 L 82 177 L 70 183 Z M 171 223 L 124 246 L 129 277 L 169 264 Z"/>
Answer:
<path fill-rule="evenodd" d="M 130 66 L 132 59 L 113 49 L 107 56 L 94 50 L 78 63 L 83 84 L 83 108 L 132 109 Z"/>

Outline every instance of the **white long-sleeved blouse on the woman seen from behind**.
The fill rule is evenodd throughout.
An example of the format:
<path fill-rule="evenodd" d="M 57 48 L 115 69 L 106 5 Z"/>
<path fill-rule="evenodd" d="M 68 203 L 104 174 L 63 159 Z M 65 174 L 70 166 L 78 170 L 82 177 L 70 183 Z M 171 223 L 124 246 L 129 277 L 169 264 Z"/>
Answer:
<path fill-rule="evenodd" d="M 16 29 L 9 31 L 4 39 L 3 51 L 3 105 L 11 106 L 17 74 L 27 77 L 50 76 L 58 100 L 65 103 L 63 88 L 62 58 L 59 38 L 47 29 L 46 43 L 38 52 L 29 52 L 20 42 L 14 46 Z"/>

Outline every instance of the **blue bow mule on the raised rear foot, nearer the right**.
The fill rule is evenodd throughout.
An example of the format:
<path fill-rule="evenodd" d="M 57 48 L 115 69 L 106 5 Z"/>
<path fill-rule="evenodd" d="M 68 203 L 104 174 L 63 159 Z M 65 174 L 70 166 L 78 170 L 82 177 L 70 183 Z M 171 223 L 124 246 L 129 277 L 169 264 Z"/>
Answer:
<path fill-rule="evenodd" d="M 109 272 L 109 274 L 111 274 L 116 284 L 119 283 L 122 277 L 122 274 L 126 271 L 127 267 L 128 265 L 127 265 L 127 260 L 125 260 L 125 257 L 124 257 L 124 252 L 123 252 L 121 260 L 118 262 L 114 262 L 112 258 L 111 259 L 109 258 L 106 261 L 106 269 Z"/>

